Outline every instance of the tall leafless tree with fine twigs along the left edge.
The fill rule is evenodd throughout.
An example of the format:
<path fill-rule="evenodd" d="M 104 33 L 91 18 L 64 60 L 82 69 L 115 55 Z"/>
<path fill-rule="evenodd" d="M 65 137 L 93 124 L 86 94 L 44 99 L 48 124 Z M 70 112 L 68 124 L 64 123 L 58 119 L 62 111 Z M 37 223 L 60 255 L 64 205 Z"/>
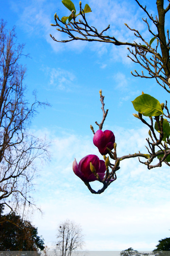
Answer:
<path fill-rule="evenodd" d="M 26 67 L 20 64 L 23 44 L 16 40 L 15 28 L 8 31 L 0 22 L 0 204 L 16 212 L 24 202 L 33 201 L 30 191 L 36 176 L 36 159 L 49 158 L 48 144 L 29 133 L 31 120 L 40 103 L 25 98 L 23 79 Z"/>

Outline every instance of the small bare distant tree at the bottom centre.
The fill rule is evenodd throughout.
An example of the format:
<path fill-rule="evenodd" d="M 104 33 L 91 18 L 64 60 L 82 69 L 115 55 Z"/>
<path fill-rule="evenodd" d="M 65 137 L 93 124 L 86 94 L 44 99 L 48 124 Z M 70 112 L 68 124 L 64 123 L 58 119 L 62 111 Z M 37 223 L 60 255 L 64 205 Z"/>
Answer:
<path fill-rule="evenodd" d="M 73 251 L 82 248 L 83 235 L 80 225 L 66 220 L 58 226 L 56 250 L 62 256 L 71 256 Z"/>

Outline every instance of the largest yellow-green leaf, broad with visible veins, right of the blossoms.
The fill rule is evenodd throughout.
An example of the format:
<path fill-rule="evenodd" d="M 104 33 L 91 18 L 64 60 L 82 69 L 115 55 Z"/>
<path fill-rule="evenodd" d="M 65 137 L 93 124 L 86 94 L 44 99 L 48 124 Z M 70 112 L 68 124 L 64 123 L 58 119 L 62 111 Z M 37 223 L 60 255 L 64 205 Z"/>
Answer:
<path fill-rule="evenodd" d="M 142 94 L 132 101 L 134 109 L 146 117 L 163 114 L 160 102 L 149 94 Z"/>

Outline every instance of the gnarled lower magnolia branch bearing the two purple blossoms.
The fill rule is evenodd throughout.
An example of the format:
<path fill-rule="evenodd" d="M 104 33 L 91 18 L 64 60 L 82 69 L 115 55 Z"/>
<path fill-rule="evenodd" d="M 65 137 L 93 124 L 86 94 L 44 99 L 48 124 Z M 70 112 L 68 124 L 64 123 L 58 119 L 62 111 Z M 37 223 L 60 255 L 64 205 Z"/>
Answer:
<path fill-rule="evenodd" d="M 102 119 L 102 122 L 100 124 L 98 124 L 97 122 L 95 122 L 95 123 L 99 126 L 99 129 L 100 128 L 102 129 L 102 126 L 103 126 L 103 123 L 105 121 L 108 110 L 106 110 L 107 112 L 105 112 L 105 110 L 104 110 L 104 102 L 103 102 L 104 101 L 104 96 L 102 95 L 102 90 L 100 90 L 99 93 L 100 93 L 101 104 L 102 104 L 103 119 Z M 165 109 L 167 110 L 168 116 L 169 116 L 169 110 L 168 110 L 168 107 L 167 107 L 167 102 L 166 102 Z M 152 117 L 150 117 L 150 124 L 149 124 L 145 119 L 143 119 L 141 113 L 134 114 L 134 116 L 136 118 L 138 118 L 143 124 L 147 125 L 150 129 L 149 130 L 150 138 L 146 138 L 147 143 L 148 143 L 148 147 L 146 146 L 146 148 L 148 150 L 148 153 L 141 153 L 139 151 L 139 153 L 133 153 L 133 154 L 128 154 L 128 155 L 125 155 L 125 156 L 122 156 L 122 157 L 117 157 L 117 152 L 116 152 L 117 144 L 114 143 L 114 151 L 107 148 L 109 150 L 109 152 L 108 152 L 109 157 L 111 158 L 111 161 L 114 161 L 114 163 L 111 163 L 109 161 L 109 164 L 107 165 L 106 161 L 108 161 L 108 160 L 107 160 L 106 156 L 104 155 L 103 157 L 104 157 L 105 165 L 106 165 L 105 177 L 101 180 L 100 177 L 97 174 L 95 174 L 97 180 L 100 183 L 103 184 L 103 187 L 101 189 L 99 189 L 98 191 L 95 191 L 94 189 L 91 188 L 89 182 L 84 182 L 91 193 L 93 193 L 93 194 L 103 193 L 105 191 L 105 189 L 113 181 L 116 180 L 116 178 L 117 178 L 116 171 L 118 171 L 120 169 L 121 161 L 123 161 L 125 159 L 138 157 L 139 162 L 142 163 L 142 164 L 147 165 L 149 170 L 153 169 L 155 167 L 161 167 L 163 162 L 165 164 L 167 164 L 168 166 L 170 166 L 170 164 L 167 161 L 167 157 L 170 155 L 170 148 L 168 147 L 168 145 L 170 146 L 170 140 L 167 137 L 166 142 L 165 141 L 163 142 L 163 139 L 164 139 L 164 130 L 163 130 L 163 121 L 164 121 L 164 119 L 163 119 L 163 116 L 155 116 L 154 117 L 154 120 L 156 121 L 156 124 L 158 126 L 158 132 L 159 133 L 154 128 L 154 123 L 153 123 L 153 118 Z M 90 125 L 90 129 L 95 134 L 94 128 L 92 127 L 92 125 Z M 159 136 L 157 136 L 156 133 L 159 134 Z M 151 139 L 151 141 L 150 141 L 150 139 Z M 141 161 L 140 158 L 144 158 L 147 161 Z M 151 163 L 156 158 L 158 158 L 158 162 L 156 164 L 152 165 Z M 109 171 L 109 168 L 111 169 L 110 171 Z"/>

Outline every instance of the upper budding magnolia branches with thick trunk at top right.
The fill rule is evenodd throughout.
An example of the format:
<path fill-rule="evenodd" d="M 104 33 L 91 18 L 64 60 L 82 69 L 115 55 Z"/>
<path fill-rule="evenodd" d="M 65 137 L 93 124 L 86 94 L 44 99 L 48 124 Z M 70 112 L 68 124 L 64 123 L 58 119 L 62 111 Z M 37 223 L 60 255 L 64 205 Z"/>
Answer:
<path fill-rule="evenodd" d="M 147 19 L 143 19 L 143 22 L 147 24 L 148 30 L 151 34 L 151 40 L 150 42 L 147 42 L 142 36 L 141 33 L 136 30 L 130 28 L 127 24 L 125 26 L 130 29 L 131 31 L 134 31 L 135 37 L 140 39 L 140 43 L 134 42 L 121 42 L 117 40 L 114 36 L 105 35 L 105 32 L 109 30 L 110 25 L 107 26 L 107 28 L 103 29 L 101 32 L 98 32 L 98 29 L 94 26 L 90 26 L 86 20 L 85 12 L 83 11 L 81 7 L 80 2 L 80 13 L 81 19 L 77 20 L 78 15 L 74 15 L 72 13 L 73 22 L 70 21 L 68 24 L 66 24 L 66 21 L 62 18 L 60 19 L 58 15 L 54 15 L 54 20 L 56 24 L 51 24 L 51 26 L 57 27 L 56 29 L 60 32 L 63 32 L 68 35 L 69 39 L 66 40 L 57 40 L 55 37 L 53 37 L 50 34 L 50 37 L 56 41 L 56 42 L 70 42 L 73 40 L 82 40 L 82 41 L 98 41 L 103 43 L 112 43 L 114 45 L 127 45 L 131 46 L 131 49 L 128 48 L 130 55 L 128 57 L 135 63 L 138 63 L 147 70 L 149 73 L 148 75 L 145 75 L 143 71 L 141 71 L 141 75 L 137 71 L 135 71 L 136 74 L 133 74 L 133 76 L 141 77 L 141 78 L 155 78 L 156 82 L 162 86 L 168 93 L 170 93 L 170 83 L 168 82 L 168 79 L 170 78 L 170 55 L 169 55 L 169 31 L 167 31 L 168 36 L 168 42 L 166 42 L 166 36 L 165 36 L 165 15 L 170 10 L 170 4 L 167 6 L 167 8 L 164 10 L 164 0 L 157 1 L 157 10 L 158 10 L 158 16 L 159 19 L 154 19 L 152 17 L 152 14 L 150 15 L 148 11 L 146 10 L 146 6 L 143 7 L 137 0 L 135 0 L 137 4 L 140 6 L 140 8 L 147 14 L 150 21 L 153 23 L 153 25 L 156 27 L 157 33 L 154 33 L 151 30 L 151 26 L 149 25 Z M 90 10 L 91 11 L 91 10 Z M 90 12 L 88 11 L 88 12 Z M 157 40 L 157 44 L 155 47 L 152 47 L 152 43 L 154 40 Z M 160 46 L 160 48 L 158 47 Z"/>

